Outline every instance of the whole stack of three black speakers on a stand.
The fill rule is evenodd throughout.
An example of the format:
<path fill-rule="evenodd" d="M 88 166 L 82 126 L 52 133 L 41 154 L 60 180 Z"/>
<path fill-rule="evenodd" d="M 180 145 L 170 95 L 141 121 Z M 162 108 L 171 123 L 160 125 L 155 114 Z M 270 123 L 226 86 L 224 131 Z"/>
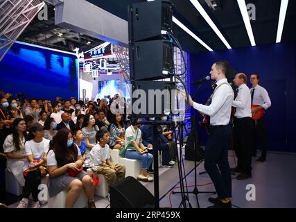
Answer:
<path fill-rule="evenodd" d="M 174 72 L 173 41 L 166 35 L 172 31 L 173 4 L 166 0 L 134 3 L 129 6 L 128 15 L 132 104 L 141 98 L 134 94 L 137 89 L 146 94 L 145 107 L 139 104 L 137 112 L 132 108 L 132 116 L 162 117 L 168 111 L 164 109 L 168 103 L 165 95 L 161 99 L 155 95 L 153 108 L 149 110 L 148 94 L 156 89 L 175 88 L 175 83 L 155 81 L 171 78 Z M 157 108 L 159 99 L 160 111 Z"/>

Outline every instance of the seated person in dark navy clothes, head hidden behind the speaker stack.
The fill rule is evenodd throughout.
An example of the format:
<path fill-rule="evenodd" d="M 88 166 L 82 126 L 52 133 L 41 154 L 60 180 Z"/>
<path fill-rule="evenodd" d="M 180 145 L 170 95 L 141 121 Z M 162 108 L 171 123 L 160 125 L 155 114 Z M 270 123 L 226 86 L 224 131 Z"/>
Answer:
<path fill-rule="evenodd" d="M 162 166 L 163 167 L 173 167 L 173 164 L 170 164 L 170 146 L 168 143 L 168 139 L 162 135 L 162 133 L 157 133 L 157 138 L 154 137 L 153 126 L 151 125 L 143 125 L 141 126 L 142 139 L 144 146 L 148 148 L 153 148 L 153 144 L 156 142 L 159 143 L 159 151 L 162 151 Z M 153 153 L 153 149 L 150 150 Z M 151 169 L 152 166 L 150 166 Z"/>

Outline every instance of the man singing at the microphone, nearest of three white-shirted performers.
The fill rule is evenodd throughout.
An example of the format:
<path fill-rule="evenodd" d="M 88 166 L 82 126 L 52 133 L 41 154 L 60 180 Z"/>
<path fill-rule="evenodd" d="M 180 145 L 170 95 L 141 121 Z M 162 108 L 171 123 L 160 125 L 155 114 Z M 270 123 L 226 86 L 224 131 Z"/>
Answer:
<path fill-rule="evenodd" d="M 209 140 L 204 153 L 204 169 L 214 183 L 218 198 L 209 198 L 209 201 L 214 203 L 209 208 L 232 207 L 229 200 L 232 197 L 232 178 L 228 162 L 228 148 L 231 132 L 229 121 L 234 92 L 225 77 L 228 69 L 229 64 L 224 61 L 215 62 L 211 67 L 211 79 L 216 80 L 217 87 L 210 105 L 195 103 L 189 96 L 190 105 L 195 110 L 211 117 Z M 218 171 L 217 164 L 221 173 Z"/>

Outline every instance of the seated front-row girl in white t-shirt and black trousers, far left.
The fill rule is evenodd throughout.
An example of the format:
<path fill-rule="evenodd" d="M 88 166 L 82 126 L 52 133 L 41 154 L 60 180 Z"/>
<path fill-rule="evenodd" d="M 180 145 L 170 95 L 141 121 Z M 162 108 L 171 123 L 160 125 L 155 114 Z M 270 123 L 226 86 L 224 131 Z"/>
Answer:
<path fill-rule="evenodd" d="M 28 207 L 30 194 L 33 197 L 33 208 L 39 208 L 38 186 L 41 183 L 40 167 L 46 162 L 46 155 L 49 151 L 49 139 L 44 139 L 44 129 L 40 123 L 33 123 L 28 134 L 28 141 L 25 144 L 26 158 L 24 164 L 24 178 L 26 180 L 23 198 L 17 208 Z"/>

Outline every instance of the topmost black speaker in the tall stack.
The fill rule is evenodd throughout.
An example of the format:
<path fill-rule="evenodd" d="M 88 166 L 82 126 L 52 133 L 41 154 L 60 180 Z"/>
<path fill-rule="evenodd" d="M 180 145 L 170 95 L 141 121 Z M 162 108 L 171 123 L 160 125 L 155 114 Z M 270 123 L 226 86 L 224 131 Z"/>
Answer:
<path fill-rule="evenodd" d="M 163 31 L 172 30 L 173 7 L 171 1 L 155 0 L 129 6 L 129 40 L 138 42 L 157 38 Z"/>

